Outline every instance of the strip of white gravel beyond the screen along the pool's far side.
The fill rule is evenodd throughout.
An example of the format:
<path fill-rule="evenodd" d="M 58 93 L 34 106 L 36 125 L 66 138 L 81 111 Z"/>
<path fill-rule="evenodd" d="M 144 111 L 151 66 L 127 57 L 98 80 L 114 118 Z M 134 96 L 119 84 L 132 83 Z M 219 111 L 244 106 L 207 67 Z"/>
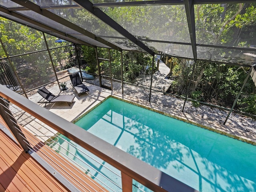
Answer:
<path fill-rule="evenodd" d="M 95 80 L 85 81 L 99 86 L 98 78 Z M 108 80 L 102 79 L 102 82 L 104 85 L 110 86 L 110 82 Z M 113 90 L 118 92 L 122 91 L 120 82 L 113 82 Z M 142 100 L 149 100 L 149 90 L 144 90 L 128 84 L 124 84 L 124 94 L 140 98 Z M 164 95 L 160 92 L 152 92 L 151 102 L 179 111 L 182 110 L 184 104 L 184 100 L 170 95 Z M 226 116 L 228 115 L 228 111 L 206 105 L 200 105 L 196 108 L 192 106 L 192 102 L 190 101 L 186 102 L 184 112 L 193 116 L 200 116 L 201 118 L 209 119 L 220 124 L 224 123 Z M 256 134 L 256 120 L 247 116 L 242 116 L 232 112 L 228 118 L 228 121 L 226 122 L 226 125 Z"/>

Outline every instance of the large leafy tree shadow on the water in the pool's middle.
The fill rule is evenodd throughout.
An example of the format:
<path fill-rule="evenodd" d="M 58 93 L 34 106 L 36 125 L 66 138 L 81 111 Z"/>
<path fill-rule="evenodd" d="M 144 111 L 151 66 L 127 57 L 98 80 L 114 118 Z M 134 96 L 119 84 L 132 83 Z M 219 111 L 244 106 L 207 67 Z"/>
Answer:
<path fill-rule="evenodd" d="M 136 158 L 159 169 L 166 169 L 170 162 L 177 159 L 182 161 L 184 149 L 186 154 L 189 150 L 171 140 L 163 132 L 152 130 L 139 122 L 128 120 L 126 130 L 136 129 L 134 145 L 131 145 L 127 152 Z M 177 166 L 178 169 L 182 168 Z"/>

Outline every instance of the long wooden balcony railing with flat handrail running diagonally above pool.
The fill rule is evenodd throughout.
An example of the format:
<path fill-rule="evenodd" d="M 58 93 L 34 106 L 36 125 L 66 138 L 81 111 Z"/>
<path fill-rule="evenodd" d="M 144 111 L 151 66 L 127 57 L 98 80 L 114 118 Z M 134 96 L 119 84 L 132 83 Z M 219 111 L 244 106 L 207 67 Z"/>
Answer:
<path fill-rule="evenodd" d="M 157 192 L 196 192 L 195 189 L 187 186 L 186 184 L 176 180 L 175 178 L 161 172 L 160 170 L 142 162 L 141 160 L 135 158 L 134 156 L 127 154 L 126 152 L 116 148 L 115 146 L 101 140 L 100 138 L 94 136 L 93 134 L 87 132 L 86 130 L 72 124 L 61 118 L 60 116 L 53 114 L 48 111 L 46 108 L 38 106 L 34 102 L 20 96 L 19 94 L 5 88 L 0 85 L 0 96 L 12 104 L 15 104 L 25 112 L 28 112 L 38 120 L 42 121 L 46 125 L 50 126 L 54 130 L 60 132 L 70 140 L 76 142 L 92 154 L 98 156 L 108 164 L 114 166 L 118 170 L 121 171 L 122 176 L 122 191 L 123 192 L 131 192 L 132 191 L 132 180 L 136 180 L 147 188 L 157 191 Z M 5 123 L 9 128 L 13 126 L 13 124 L 8 120 L 8 117 L 4 115 L 8 111 L 7 108 L 2 108 L 1 116 L 4 119 Z M 17 127 L 15 128 L 17 130 Z M 24 130 L 20 129 L 20 133 L 24 134 Z M 27 134 L 27 133 L 26 133 Z M 21 136 L 22 139 L 18 138 L 18 142 L 25 147 L 24 150 L 30 151 L 32 146 L 31 140 L 26 142 L 26 134 L 25 136 Z M 15 134 L 14 134 L 15 135 Z M 19 136 L 20 137 L 20 136 Z M 23 144 L 22 144 L 23 143 Z M 28 146 L 30 144 L 31 146 Z M 28 149 L 28 148 L 29 149 Z M 37 150 L 35 150 L 37 152 Z M 35 153 L 31 153 L 35 156 Z M 44 164 L 44 163 L 43 163 Z M 58 170 L 55 169 L 53 174 L 60 174 Z M 66 180 L 62 180 L 62 182 L 67 182 Z"/>

